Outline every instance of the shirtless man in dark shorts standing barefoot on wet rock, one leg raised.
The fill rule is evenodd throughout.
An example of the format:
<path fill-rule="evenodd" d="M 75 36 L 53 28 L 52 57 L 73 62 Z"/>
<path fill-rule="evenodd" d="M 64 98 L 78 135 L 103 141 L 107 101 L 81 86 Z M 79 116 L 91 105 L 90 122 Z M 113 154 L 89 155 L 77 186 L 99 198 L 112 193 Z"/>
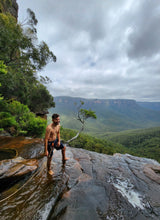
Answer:
<path fill-rule="evenodd" d="M 44 140 L 45 145 L 45 156 L 47 156 L 47 169 L 48 173 L 50 175 L 53 174 L 53 171 L 51 170 L 51 160 L 53 156 L 53 150 L 54 148 L 56 150 L 62 151 L 62 161 L 63 163 L 68 160 L 65 156 L 66 147 L 60 142 L 60 117 L 58 114 L 52 115 L 52 122 L 50 125 L 46 128 L 46 135 Z"/>

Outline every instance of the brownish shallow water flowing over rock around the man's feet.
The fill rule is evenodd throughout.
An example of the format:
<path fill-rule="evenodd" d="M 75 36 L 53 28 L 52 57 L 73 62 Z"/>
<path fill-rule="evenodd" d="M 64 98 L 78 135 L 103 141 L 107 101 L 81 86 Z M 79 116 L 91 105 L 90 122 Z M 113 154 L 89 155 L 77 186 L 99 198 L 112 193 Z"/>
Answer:
<path fill-rule="evenodd" d="M 38 142 L 38 139 L 34 142 L 24 138 L 1 139 L 1 148 L 14 148 L 18 151 L 19 156 L 37 158 L 39 163 L 35 172 L 1 193 L 0 219 L 2 220 L 45 220 L 61 192 L 67 188 L 67 175 L 61 160 L 52 164 L 54 176 L 48 175 L 46 158 L 39 156 L 43 151 L 43 145 Z"/>

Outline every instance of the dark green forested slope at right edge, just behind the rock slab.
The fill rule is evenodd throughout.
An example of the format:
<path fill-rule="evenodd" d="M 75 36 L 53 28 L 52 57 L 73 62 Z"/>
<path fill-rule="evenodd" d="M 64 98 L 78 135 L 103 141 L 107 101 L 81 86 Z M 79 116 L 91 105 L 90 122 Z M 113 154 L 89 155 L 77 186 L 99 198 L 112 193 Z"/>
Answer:
<path fill-rule="evenodd" d="M 160 162 L 160 127 L 123 131 L 107 139 L 122 144 L 127 153 Z"/>

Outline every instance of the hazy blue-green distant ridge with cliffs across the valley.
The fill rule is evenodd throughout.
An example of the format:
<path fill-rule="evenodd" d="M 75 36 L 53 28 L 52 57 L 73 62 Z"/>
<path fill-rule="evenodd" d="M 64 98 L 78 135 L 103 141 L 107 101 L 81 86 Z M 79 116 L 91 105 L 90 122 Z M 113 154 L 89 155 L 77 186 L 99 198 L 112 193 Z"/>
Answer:
<path fill-rule="evenodd" d="M 84 102 L 83 108 L 92 109 L 97 115 L 96 120 L 88 120 L 86 132 L 98 135 L 102 132 L 160 126 L 160 111 L 157 110 L 158 107 L 154 110 L 152 103 L 147 105 L 147 102 L 130 99 L 86 99 L 68 96 L 58 96 L 54 100 L 56 107 L 49 112 L 58 112 L 66 128 L 78 129 L 79 124 L 73 118 L 77 111 L 75 103 L 80 104 L 80 101 Z M 160 103 L 156 105 L 160 106 Z"/>

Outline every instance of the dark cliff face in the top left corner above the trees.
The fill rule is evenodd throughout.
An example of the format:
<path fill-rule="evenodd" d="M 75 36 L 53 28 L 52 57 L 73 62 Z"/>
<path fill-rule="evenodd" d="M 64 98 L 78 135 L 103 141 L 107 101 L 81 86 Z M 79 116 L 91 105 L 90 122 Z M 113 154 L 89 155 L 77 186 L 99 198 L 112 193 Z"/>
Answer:
<path fill-rule="evenodd" d="M 2 0 L 0 12 L 9 12 L 16 19 L 18 18 L 18 4 L 16 0 Z"/>

